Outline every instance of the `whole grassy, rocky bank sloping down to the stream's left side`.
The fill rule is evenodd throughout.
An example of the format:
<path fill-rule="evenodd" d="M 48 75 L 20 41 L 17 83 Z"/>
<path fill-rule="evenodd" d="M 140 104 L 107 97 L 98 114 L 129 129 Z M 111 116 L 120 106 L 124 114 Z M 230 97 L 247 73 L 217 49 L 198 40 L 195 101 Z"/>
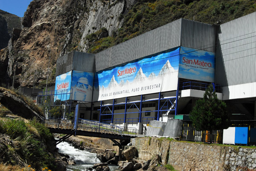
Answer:
<path fill-rule="evenodd" d="M 49 129 L 41 124 L 41 109 L 29 98 L 0 88 L 0 170 L 49 168 L 65 171 Z"/>

